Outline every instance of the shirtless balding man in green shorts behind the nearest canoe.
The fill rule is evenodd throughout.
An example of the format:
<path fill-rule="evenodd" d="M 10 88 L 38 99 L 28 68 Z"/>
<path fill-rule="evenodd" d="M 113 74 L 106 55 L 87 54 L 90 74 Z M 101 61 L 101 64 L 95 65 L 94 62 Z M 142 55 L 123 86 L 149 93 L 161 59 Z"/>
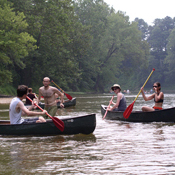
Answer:
<path fill-rule="evenodd" d="M 56 98 L 55 94 L 58 94 L 61 97 L 61 102 L 60 102 L 60 107 L 64 108 L 63 105 L 63 98 L 64 95 L 55 87 L 50 86 L 50 78 L 45 77 L 43 79 L 43 85 L 42 87 L 39 88 L 39 97 L 37 102 L 40 102 L 41 96 L 44 97 L 44 102 L 45 102 L 45 107 L 44 109 L 47 110 L 47 112 L 51 116 L 55 116 L 57 112 L 57 103 L 56 103 Z M 45 116 L 47 117 L 47 116 Z"/>

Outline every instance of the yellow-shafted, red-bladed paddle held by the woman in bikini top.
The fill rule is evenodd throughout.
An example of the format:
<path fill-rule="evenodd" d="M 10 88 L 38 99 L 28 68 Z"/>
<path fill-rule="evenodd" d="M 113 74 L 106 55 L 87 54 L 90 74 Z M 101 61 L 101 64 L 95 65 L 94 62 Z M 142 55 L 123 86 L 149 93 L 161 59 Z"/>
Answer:
<path fill-rule="evenodd" d="M 144 87 L 147 83 L 147 81 L 149 80 L 149 78 L 151 77 L 152 73 L 155 71 L 155 69 L 153 69 L 150 73 L 150 75 L 148 76 L 147 80 L 145 81 L 144 85 L 142 87 Z M 128 118 L 132 112 L 133 106 L 135 101 L 137 100 L 138 96 L 140 95 L 141 90 L 139 91 L 139 93 L 137 94 L 137 97 L 135 98 L 135 100 L 126 108 L 125 112 L 123 113 L 123 117 L 124 118 Z"/>

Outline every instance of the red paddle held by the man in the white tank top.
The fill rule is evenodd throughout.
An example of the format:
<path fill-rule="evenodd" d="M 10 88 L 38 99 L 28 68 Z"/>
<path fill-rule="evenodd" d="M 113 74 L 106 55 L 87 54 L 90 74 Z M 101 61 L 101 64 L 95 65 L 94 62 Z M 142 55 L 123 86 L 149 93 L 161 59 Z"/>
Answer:
<path fill-rule="evenodd" d="M 33 102 L 28 96 L 26 98 L 28 98 L 31 102 Z M 34 103 L 34 105 L 37 106 L 41 111 L 43 111 L 43 109 L 40 106 L 38 106 L 36 103 Z M 49 116 L 53 120 L 53 123 L 60 131 L 62 132 L 64 131 L 64 122 L 62 120 L 60 120 L 57 117 L 52 117 L 48 113 L 46 113 L 46 115 Z"/>

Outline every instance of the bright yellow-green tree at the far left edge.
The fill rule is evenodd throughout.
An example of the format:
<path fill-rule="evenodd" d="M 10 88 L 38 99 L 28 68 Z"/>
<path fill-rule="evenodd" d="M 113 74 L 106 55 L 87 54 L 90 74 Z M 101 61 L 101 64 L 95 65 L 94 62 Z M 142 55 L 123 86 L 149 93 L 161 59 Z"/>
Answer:
<path fill-rule="evenodd" d="M 12 82 L 13 66 L 23 69 L 24 59 L 34 50 L 36 40 L 26 32 L 23 13 L 15 13 L 7 1 L 0 3 L 0 83 Z M 10 69 L 10 70 L 9 70 Z"/>

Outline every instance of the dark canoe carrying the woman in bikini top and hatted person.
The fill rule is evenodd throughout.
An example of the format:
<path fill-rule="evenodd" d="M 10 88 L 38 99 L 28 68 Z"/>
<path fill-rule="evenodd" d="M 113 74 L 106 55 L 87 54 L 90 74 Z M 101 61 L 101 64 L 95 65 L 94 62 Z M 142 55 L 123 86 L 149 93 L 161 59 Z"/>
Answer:
<path fill-rule="evenodd" d="M 101 114 L 102 117 L 106 112 L 105 105 L 101 105 Z M 175 122 L 175 108 L 163 109 L 160 111 L 152 111 L 152 112 L 142 112 L 142 111 L 132 111 L 131 115 L 128 119 L 123 117 L 123 112 L 113 112 L 108 111 L 105 117 L 110 120 L 121 120 L 128 122 Z"/>

